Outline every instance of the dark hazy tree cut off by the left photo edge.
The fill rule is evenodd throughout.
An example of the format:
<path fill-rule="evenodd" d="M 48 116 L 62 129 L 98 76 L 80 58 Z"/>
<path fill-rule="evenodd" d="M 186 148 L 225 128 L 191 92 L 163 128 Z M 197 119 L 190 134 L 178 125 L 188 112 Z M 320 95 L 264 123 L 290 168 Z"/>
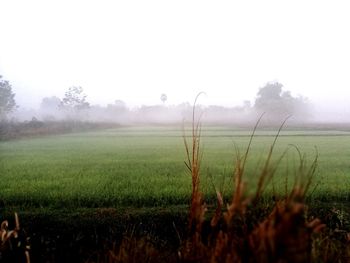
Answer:
<path fill-rule="evenodd" d="M 10 83 L 0 75 L 0 119 L 5 119 L 16 108 L 15 93 L 12 92 Z"/>

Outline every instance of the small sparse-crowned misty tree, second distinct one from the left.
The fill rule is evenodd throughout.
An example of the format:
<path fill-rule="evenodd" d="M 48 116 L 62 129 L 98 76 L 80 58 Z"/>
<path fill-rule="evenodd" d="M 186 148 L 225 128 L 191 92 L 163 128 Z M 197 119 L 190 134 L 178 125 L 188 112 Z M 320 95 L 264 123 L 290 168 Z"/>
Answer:
<path fill-rule="evenodd" d="M 90 107 L 90 104 L 86 101 L 86 95 L 83 92 L 82 87 L 70 87 L 64 94 L 60 108 L 66 110 L 71 117 L 77 118 L 81 111 Z"/>

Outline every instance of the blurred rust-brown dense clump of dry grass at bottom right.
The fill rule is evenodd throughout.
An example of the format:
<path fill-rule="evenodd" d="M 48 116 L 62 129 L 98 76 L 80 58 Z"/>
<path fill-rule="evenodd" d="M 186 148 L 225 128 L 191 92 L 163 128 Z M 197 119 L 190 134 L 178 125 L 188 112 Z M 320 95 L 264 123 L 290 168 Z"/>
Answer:
<path fill-rule="evenodd" d="M 249 235 L 251 256 L 258 262 L 310 262 L 312 235 L 325 225 L 305 218 L 305 186 L 276 203 L 270 215 Z"/>

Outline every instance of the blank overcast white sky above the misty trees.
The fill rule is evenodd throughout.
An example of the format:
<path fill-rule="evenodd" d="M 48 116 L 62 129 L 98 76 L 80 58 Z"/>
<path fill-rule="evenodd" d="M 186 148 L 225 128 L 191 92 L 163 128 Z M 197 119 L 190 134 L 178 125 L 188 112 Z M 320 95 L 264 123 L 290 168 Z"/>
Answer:
<path fill-rule="evenodd" d="M 79 85 L 91 103 L 239 105 L 280 81 L 349 112 L 349 1 L 0 1 L 0 74 L 35 107 Z"/>

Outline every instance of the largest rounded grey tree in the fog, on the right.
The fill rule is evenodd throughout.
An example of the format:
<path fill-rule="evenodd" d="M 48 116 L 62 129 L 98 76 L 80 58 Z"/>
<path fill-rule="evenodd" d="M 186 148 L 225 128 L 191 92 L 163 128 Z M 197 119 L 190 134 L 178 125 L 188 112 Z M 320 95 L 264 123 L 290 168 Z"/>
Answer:
<path fill-rule="evenodd" d="M 254 108 L 258 112 L 266 112 L 268 116 L 280 121 L 288 115 L 295 120 L 302 120 L 310 115 L 309 105 L 303 97 L 293 97 L 290 91 L 283 91 L 279 82 L 267 83 L 260 88 Z"/>

